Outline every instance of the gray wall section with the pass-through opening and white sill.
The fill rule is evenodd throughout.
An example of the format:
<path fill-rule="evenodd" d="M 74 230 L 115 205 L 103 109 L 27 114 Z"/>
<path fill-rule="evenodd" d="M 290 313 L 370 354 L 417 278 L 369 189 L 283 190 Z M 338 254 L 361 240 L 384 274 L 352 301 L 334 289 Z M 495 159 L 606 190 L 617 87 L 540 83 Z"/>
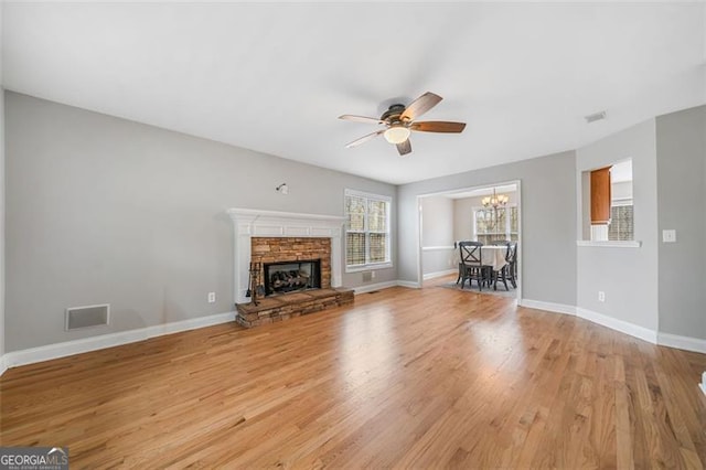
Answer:
<path fill-rule="evenodd" d="M 639 248 L 582 246 L 577 257 L 577 303 L 591 312 L 657 330 L 657 196 L 654 119 L 576 151 L 577 207 L 582 172 L 632 158 L 634 236 Z M 580 233 L 581 217 L 576 217 Z M 598 291 L 606 301 L 598 301 Z"/>

